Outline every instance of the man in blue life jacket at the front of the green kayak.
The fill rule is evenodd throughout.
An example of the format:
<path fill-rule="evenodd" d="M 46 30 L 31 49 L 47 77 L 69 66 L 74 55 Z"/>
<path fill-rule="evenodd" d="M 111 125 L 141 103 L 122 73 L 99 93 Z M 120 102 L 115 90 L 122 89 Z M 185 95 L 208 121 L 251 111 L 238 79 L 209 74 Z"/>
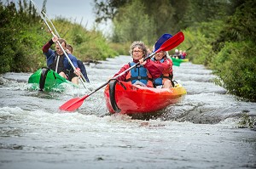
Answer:
<path fill-rule="evenodd" d="M 75 70 L 73 70 L 72 65 L 70 65 L 66 55 L 62 51 L 61 47 L 57 43 L 61 43 L 61 47 L 66 50 L 67 42 L 65 39 L 58 38 L 57 36 L 52 37 L 49 42 L 47 42 L 43 47 L 43 53 L 47 59 L 47 66 L 51 70 L 55 70 L 60 76 L 66 78 L 67 80 L 79 84 L 80 69 L 78 65 L 78 60 L 72 54 L 67 54 L 68 58 L 71 60 Z M 52 50 L 51 45 L 55 44 L 55 50 Z"/>

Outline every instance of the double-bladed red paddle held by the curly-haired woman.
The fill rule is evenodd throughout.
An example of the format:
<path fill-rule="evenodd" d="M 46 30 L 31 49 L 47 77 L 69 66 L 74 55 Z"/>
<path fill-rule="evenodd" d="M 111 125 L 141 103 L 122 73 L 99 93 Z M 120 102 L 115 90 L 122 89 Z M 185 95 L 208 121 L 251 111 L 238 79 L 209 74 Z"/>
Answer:
<path fill-rule="evenodd" d="M 147 59 L 150 59 L 151 57 L 154 56 L 154 54 L 157 54 L 160 51 L 169 51 L 172 48 L 176 48 L 183 41 L 184 41 L 183 32 L 179 31 L 176 35 L 174 35 L 173 37 L 167 39 L 166 42 L 163 42 L 162 45 L 160 45 L 160 48 L 158 48 L 154 53 L 148 55 L 144 59 L 144 61 L 147 60 Z M 136 65 L 131 66 L 129 69 L 123 71 L 118 76 L 114 76 L 113 79 L 117 79 L 119 76 L 123 76 L 125 74 L 125 72 L 133 69 L 134 67 L 136 67 L 139 64 L 140 63 L 138 62 Z M 113 79 L 108 80 L 108 82 L 110 82 Z M 74 99 L 68 100 L 65 104 L 62 104 L 59 109 L 60 110 L 65 110 L 65 111 L 74 111 L 74 110 L 79 109 L 79 107 L 83 104 L 84 99 L 88 98 L 91 94 L 96 93 L 102 87 L 105 87 L 106 85 L 108 85 L 108 82 L 105 82 L 104 84 L 102 84 L 102 86 L 97 87 L 96 90 L 94 90 L 93 92 L 89 93 L 88 95 L 84 95 L 82 98 L 74 98 Z"/>

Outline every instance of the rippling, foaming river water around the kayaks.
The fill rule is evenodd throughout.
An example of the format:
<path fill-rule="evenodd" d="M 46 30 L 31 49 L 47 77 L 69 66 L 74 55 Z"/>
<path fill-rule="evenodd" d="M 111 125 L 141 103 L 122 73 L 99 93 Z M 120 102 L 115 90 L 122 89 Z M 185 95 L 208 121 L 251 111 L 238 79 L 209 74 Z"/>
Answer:
<path fill-rule="evenodd" d="M 65 93 L 27 90 L 31 74 L 0 77 L 0 168 L 255 168 L 256 132 L 239 128 L 256 104 L 212 83 L 211 70 L 183 63 L 174 78 L 187 89 L 182 103 L 151 119 L 109 115 L 104 87 L 73 113 L 67 100 L 100 87 L 129 62 L 121 56 L 86 69 L 87 88 Z"/>

